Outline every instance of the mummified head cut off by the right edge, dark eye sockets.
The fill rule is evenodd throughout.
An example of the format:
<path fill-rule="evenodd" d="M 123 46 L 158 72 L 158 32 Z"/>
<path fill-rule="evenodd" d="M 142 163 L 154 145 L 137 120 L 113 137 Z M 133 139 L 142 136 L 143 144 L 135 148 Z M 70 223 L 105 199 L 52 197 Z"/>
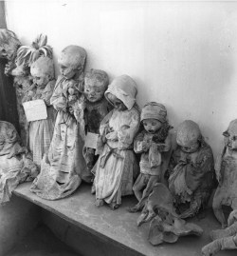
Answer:
<path fill-rule="evenodd" d="M 237 119 L 232 120 L 228 130 L 223 132 L 225 145 L 230 150 L 237 150 Z"/>

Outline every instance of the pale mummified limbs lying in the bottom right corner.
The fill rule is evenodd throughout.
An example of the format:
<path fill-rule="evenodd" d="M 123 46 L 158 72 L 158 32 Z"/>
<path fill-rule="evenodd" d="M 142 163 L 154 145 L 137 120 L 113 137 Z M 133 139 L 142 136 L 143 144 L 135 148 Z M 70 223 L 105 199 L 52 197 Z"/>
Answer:
<path fill-rule="evenodd" d="M 237 249 L 237 209 L 230 212 L 228 227 L 213 230 L 210 233 L 210 238 L 213 242 L 202 248 L 203 256 L 215 255 L 220 250 Z"/>

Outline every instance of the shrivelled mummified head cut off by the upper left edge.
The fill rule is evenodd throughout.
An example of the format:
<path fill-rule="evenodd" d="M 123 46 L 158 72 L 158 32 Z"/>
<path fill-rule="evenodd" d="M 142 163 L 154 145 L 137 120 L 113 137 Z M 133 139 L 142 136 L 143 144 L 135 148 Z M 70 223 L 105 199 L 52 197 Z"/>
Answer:
<path fill-rule="evenodd" d="M 0 29 L 0 58 L 13 60 L 21 42 L 11 30 Z"/>

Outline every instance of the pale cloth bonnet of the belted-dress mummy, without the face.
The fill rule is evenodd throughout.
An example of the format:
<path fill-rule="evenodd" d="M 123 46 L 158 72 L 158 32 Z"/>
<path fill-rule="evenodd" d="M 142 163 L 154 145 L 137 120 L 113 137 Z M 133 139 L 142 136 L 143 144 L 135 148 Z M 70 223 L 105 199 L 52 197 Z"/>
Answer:
<path fill-rule="evenodd" d="M 109 101 L 108 93 L 115 95 L 130 110 L 136 102 L 137 84 L 130 76 L 123 74 L 116 77 L 104 92 L 107 101 Z"/>

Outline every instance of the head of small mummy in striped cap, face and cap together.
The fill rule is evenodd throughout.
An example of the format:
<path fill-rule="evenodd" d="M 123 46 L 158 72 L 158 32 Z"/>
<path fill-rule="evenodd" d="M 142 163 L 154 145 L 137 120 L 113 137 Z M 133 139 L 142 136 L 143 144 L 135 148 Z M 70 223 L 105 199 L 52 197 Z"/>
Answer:
<path fill-rule="evenodd" d="M 167 122 L 166 117 L 167 110 L 164 105 L 149 102 L 141 109 L 140 121 L 149 133 L 155 133 L 162 124 Z"/>

